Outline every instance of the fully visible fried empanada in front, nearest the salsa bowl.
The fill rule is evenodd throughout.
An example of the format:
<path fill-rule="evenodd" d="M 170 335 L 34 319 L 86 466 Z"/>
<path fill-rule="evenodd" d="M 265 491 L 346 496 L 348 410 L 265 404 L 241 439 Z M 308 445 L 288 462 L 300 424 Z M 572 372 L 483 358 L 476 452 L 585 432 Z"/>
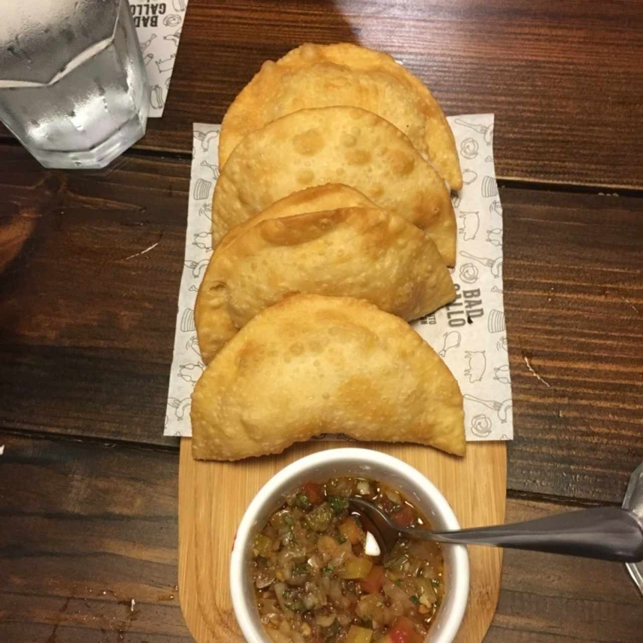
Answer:
<path fill-rule="evenodd" d="M 319 433 L 463 455 L 462 394 L 413 329 L 372 303 L 291 296 L 260 312 L 192 394 L 192 454 L 239 460 Z"/>

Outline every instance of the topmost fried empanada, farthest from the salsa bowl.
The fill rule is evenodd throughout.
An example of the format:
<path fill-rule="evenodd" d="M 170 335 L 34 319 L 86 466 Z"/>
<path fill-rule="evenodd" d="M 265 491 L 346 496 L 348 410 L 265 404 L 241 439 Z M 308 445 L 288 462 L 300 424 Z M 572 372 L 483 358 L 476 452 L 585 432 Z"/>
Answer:
<path fill-rule="evenodd" d="M 219 165 L 249 132 L 298 109 L 332 105 L 368 109 L 393 123 L 451 188 L 462 188 L 453 132 L 431 92 L 388 53 L 349 42 L 307 43 L 266 60 L 224 116 Z"/>

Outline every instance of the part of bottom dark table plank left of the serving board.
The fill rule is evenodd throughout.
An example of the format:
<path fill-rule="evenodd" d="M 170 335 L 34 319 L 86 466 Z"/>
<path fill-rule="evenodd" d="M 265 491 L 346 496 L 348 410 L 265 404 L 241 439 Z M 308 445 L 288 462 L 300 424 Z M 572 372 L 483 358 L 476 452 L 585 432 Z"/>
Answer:
<path fill-rule="evenodd" d="M 0 444 L 0 640 L 192 640 L 176 587 L 177 454 Z"/>

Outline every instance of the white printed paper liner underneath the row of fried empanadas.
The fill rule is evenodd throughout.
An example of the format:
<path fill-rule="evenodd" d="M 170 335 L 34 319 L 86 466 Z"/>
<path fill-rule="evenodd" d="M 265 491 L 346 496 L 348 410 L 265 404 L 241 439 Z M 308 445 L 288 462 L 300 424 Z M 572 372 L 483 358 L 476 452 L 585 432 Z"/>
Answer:
<path fill-rule="evenodd" d="M 502 292 L 502 205 L 493 164 L 493 114 L 451 116 L 464 187 L 458 221 L 455 302 L 413 322 L 458 380 L 467 440 L 511 440 L 513 416 Z M 204 370 L 194 301 L 212 256 L 212 192 L 219 177 L 219 125 L 194 123 L 185 261 L 170 371 L 165 435 L 189 436 L 190 395 Z"/>

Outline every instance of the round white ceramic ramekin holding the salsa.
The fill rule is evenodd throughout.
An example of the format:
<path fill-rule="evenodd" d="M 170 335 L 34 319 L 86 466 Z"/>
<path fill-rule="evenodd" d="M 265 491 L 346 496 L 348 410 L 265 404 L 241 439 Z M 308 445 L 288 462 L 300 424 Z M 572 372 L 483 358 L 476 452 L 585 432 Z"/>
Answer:
<path fill-rule="evenodd" d="M 284 495 L 304 482 L 332 476 L 374 478 L 399 489 L 430 520 L 434 529 L 460 529 L 444 496 L 417 469 L 371 449 L 328 449 L 285 467 L 262 487 L 244 514 L 230 561 L 230 592 L 237 622 L 248 643 L 270 643 L 259 619 L 248 563 L 251 545 Z M 425 643 L 451 643 L 460 627 L 469 596 L 469 557 L 463 545 L 442 545 L 445 594 Z"/>

